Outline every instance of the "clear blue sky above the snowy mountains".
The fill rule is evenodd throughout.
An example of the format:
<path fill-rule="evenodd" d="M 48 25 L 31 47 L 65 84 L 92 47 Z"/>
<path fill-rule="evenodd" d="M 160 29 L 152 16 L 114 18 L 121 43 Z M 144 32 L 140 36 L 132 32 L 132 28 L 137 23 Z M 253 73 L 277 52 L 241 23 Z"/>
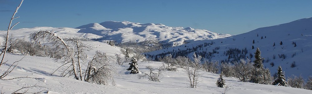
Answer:
<path fill-rule="evenodd" d="M 7 30 L 19 2 L 0 0 L 0 30 Z M 310 18 L 312 0 L 24 0 L 17 16 L 14 29 L 130 21 L 236 35 Z"/>

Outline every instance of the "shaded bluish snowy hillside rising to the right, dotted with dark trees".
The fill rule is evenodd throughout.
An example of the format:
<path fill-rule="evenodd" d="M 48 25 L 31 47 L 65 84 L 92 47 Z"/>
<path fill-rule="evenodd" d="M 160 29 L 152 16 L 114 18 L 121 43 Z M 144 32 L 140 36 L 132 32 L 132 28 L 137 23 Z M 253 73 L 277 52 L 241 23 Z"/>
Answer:
<path fill-rule="evenodd" d="M 257 36 L 258 35 L 258 36 Z M 263 39 L 261 39 L 263 37 Z M 252 41 L 255 40 L 253 44 Z M 189 44 L 180 45 L 177 47 L 172 47 L 168 49 L 161 49 L 158 51 L 150 52 L 150 55 L 157 54 L 177 54 L 178 52 L 185 52 L 186 55 L 191 56 L 193 52 L 207 52 L 205 54 L 208 56 L 208 52 L 212 52 L 216 49 L 216 47 L 220 47 L 216 51 L 218 53 L 214 53 L 211 55 L 210 60 L 226 60 L 228 56 L 225 55 L 225 51 L 229 48 L 238 48 L 238 49 L 246 49 L 248 53 L 246 57 L 249 57 L 249 54 L 253 54 L 256 52 L 256 48 L 259 47 L 261 50 L 261 56 L 265 58 L 264 66 L 266 68 L 270 68 L 271 74 L 277 72 L 277 68 L 279 65 L 285 71 L 285 76 L 289 77 L 292 74 L 300 75 L 304 78 L 312 75 L 310 72 L 312 69 L 311 57 L 312 57 L 312 18 L 305 18 L 296 21 L 292 21 L 285 24 L 280 24 L 276 26 L 269 26 L 258 28 L 256 30 L 243 33 L 240 35 L 234 35 L 228 38 L 221 38 L 215 40 L 198 40 Z M 283 45 L 280 45 L 280 41 L 283 42 Z M 213 45 L 209 43 L 214 43 Z M 273 44 L 275 42 L 275 46 Z M 296 47 L 292 44 L 292 42 L 296 43 Z M 199 47 L 196 49 L 198 45 L 208 46 Z M 254 46 L 255 49 L 252 49 Z M 195 48 L 195 49 L 194 49 Z M 183 51 L 188 49 L 188 52 Z M 278 57 L 278 54 L 285 54 L 287 57 L 285 59 L 281 59 Z M 292 56 L 295 54 L 294 56 Z M 273 59 L 273 55 L 275 55 L 276 59 Z M 254 57 L 251 58 L 254 60 Z M 270 63 L 274 63 L 275 66 L 271 66 Z M 295 62 L 296 67 L 291 68 L 291 63 Z"/>

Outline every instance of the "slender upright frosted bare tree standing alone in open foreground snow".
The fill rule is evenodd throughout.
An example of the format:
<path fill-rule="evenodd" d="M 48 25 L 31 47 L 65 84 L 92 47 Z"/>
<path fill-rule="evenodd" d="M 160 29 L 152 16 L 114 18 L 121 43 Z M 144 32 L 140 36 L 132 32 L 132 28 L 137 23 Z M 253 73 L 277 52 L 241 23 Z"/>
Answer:
<path fill-rule="evenodd" d="M 190 83 L 189 87 L 196 88 L 200 82 L 198 78 L 201 75 L 200 71 L 202 66 L 200 62 L 202 56 L 196 56 L 196 54 L 194 53 L 192 58 L 194 61 L 188 63 L 187 66 L 184 68 L 183 72 L 186 73 L 186 75 L 188 76 L 187 81 Z"/>

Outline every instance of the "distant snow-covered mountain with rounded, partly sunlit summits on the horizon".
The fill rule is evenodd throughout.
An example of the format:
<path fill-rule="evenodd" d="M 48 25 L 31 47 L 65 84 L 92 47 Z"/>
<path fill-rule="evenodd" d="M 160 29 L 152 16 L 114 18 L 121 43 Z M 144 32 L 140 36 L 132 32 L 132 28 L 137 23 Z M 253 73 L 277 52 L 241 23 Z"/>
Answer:
<path fill-rule="evenodd" d="M 120 42 L 140 42 L 144 40 L 158 40 L 173 46 L 182 45 L 185 40 L 211 40 L 229 37 L 229 34 L 213 33 L 207 30 L 191 27 L 169 27 L 163 24 L 134 23 L 129 21 L 105 21 L 100 24 L 91 23 L 79 26 L 80 33 L 92 33 L 103 36 L 102 40 L 116 40 Z"/>

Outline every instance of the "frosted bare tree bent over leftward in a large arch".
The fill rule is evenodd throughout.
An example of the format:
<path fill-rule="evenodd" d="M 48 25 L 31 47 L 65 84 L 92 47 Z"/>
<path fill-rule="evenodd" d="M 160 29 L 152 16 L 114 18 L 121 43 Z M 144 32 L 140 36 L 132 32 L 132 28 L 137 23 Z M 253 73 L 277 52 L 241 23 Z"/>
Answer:
<path fill-rule="evenodd" d="M 52 52 L 56 55 L 56 61 L 61 61 L 61 65 L 56 70 L 63 68 L 61 76 L 65 77 L 67 75 L 74 77 L 77 80 L 81 80 L 80 76 L 77 74 L 76 62 L 75 62 L 75 51 L 72 49 L 61 37 L 57 36 L 52 31 L 37 31 L 30 35 L 30 39 L 39 42 L 40 40 L 45 40 L 51 43 Z M 55 72 L 55 71 L 54 71 Z M 53 72 L 53 73 L 54 73 Z"/>

